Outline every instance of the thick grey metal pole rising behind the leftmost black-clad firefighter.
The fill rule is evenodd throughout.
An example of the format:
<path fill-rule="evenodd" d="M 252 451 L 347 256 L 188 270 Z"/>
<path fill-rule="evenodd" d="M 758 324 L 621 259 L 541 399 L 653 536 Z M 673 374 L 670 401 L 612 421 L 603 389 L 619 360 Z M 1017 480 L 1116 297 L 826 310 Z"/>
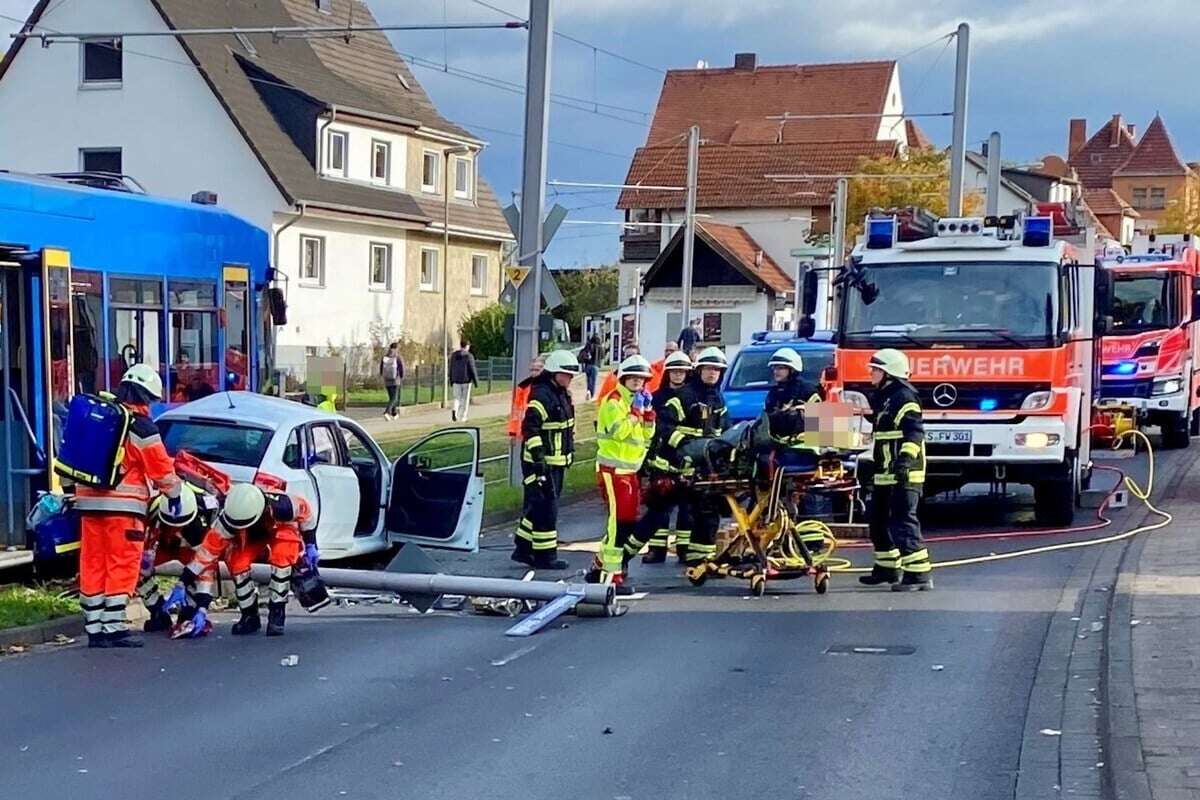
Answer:
<path fill-rule="evenodd" d="M 526 60 L 524 161 L 521 175 L 518 263 L 529 275 L 517 288 L 512 324 L 512 391 L 538 355 L 541 317 L 541 217 L 546 204 L 546 121 L 550 116 L 550 44 L 554 18 L 551 0 L 529 0 L 529 50 Z M 521 485 L 521 443 L 509 444 L 509 483 Z"/>

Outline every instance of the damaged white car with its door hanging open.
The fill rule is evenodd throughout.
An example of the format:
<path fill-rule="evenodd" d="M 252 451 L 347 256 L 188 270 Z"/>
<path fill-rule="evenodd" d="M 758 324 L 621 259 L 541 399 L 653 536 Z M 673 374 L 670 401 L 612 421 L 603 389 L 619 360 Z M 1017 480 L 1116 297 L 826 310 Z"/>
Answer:
<path fill-rule="evenodd" d="M 322 560 L 395 542 L 479 549 L 478 428 L 438 431 L 390 462 L 354 420 L 251 392 L 210 395 L 156 422 L 172 455 L 186 450 L 234 481 L 283 481 L 307 499 L 318 515 Z"/>

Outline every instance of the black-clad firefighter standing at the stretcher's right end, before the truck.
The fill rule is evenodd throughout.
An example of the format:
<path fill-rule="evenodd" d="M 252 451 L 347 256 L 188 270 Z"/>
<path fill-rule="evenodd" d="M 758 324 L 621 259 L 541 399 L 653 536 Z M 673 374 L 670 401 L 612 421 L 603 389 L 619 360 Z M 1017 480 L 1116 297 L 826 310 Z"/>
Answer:
<path fill-rule="evenodd" d="M 893 591 L 932 589 L 929 551 L 920 536 L 917 504 L 925 482 L 925 423 L 920 397 L 908 383 L 908 356 L 887 348 L 871 356 L 875 482 L 871 545 L 875 565 L 859 582 Z"/>

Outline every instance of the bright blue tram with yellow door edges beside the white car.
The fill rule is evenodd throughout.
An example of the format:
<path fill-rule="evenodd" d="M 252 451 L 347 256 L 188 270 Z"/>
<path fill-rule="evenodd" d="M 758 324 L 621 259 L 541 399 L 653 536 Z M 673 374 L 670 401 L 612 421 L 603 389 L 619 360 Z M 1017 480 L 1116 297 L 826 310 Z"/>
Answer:
<path fill-rule="evenodd" d="M 56 488 L 76 392 L 113 389 L 139 361 L 167 403 L 259 387 L 268 271 L 266 231 L 217 206 L 115 176 L 0 172 L 0 545 L 31 543 L 24 517 Z"/>

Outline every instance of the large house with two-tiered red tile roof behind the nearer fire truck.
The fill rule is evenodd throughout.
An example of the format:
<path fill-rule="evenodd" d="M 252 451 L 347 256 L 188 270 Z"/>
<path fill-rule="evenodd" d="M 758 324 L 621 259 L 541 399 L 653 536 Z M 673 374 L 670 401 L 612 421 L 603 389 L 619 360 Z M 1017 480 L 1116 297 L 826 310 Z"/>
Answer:
<path fill-rule="evenodd" d="M 714 230 L 737 231 L 727 237 L 773 264 L 772 275 L 774 270 L 792 272 L 791 251 L 829 230 L 838 175 L 854 172 L 863 158 L 929 146 L 916 122 L 904 118 L 895 61 L 760 65 L 754 53 L 739 53 L 731 67 L 667 72 L 646 144 L 635 151 L 625 184 L 683 186 L 692 125 L 700 126 L 701 139 L 696 211 L 709 227 L 707 235 L 714 239 Z M 637 225 L 628 227 L 622 236 L 620 297 L 628 302 L 638 295 L 642 276 L 652 269 L 662 275 L 655 265 L 683 224 L 684 193 L 626 188 L 617 207 L 628 223 Z M 728 248 L 710 249 L 718 254 L 724 249 L 732 261 L 738 260 Z M 730 275 L 744 272 L 736 263 L 728 269 Z M 760 299 L 772 295 L 772 312 L 790 300 L 786 291 L 751 283 Z M 649 351 L 670 331 L 666 319 L 654 318 L 652 287 L 646 287 L 648 306 L 641 327 L 643 349 Z M 702 330 L 721 331 L 713 343 L 744 341 L 750 331 L 770 326 L 773 313 L 760 313 L 755 303 L 730 311 L 728 295 L 724 288 L 708 285 L 697 287 L 691 296 Z M 678 308 L 678 297 L 673 302 Z M 744 315 L 740 327 L 731 332 L 739 313 Z"/>

